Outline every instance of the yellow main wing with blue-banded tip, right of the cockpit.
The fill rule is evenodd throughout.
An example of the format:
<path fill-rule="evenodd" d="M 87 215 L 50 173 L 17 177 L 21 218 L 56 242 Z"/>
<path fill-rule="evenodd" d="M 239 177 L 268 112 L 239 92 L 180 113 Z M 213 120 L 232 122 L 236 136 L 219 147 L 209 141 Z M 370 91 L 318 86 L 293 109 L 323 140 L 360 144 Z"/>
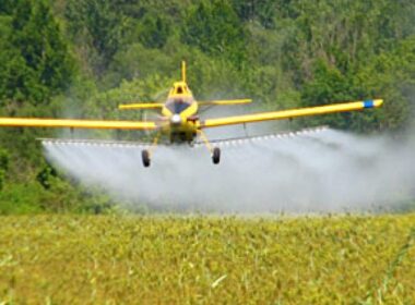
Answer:
<path fill-rule="evenodd" d="M 382 99 L 370 99 L 370 100 L 334 103 L 334 105 L 318 106 L 318 107 L 307 107 L 307 108 L 299 108 L 299 109 L 263 112 L 263 113 L 256 113 L 256 114 L 208 119 L 204 121 L 202 120 L 200 122 L 199 127 L 209 129 L 209 127 L 218 127 L 218 126 L 234 125 L 234 124 L 245 124 L 245 123 L 254 123 L 254 122 L 271 121 L 271 120 L 284 120 L 284 119 L 293 119 L 293 118 L 299 118 L 299 117 L 327 114 L 327 113 L 357 111 L 357 110 L 364 110 L 367 108 L 378 108 L 378 107 L 381 107 L 382 103 L 383 103 Z"/>

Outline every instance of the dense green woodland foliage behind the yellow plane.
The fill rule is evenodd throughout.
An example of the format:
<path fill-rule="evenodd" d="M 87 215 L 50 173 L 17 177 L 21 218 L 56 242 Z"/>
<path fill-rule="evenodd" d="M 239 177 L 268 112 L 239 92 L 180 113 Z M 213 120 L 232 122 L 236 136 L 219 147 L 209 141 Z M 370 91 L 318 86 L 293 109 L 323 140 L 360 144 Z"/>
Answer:
<path fill-rule="evenodd" d="M 414 107 L 414 20 L 411 0 L 2 0 L 0 114 L 118 118 L 120 101 L 163 99 L 186 59 L 200 99 L 283 109 L 383 97 L 380 111 L 296 123 L 399 132 Z M 40 211 L 90 199 L 43 160 L 35 138 L 52 134 L 0 130 L 0 212 L 27 192 Z"/>

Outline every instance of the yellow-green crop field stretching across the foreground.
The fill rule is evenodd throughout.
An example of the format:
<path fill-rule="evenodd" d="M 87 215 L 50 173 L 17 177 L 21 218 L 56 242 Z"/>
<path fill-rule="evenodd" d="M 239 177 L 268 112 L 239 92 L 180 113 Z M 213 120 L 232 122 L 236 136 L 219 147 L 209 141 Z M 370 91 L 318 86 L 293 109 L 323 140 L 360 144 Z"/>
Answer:
<path fill-rule="evenodd" d="M 414 304 L 415 215 L 0 218 L 0 304 Z"/>

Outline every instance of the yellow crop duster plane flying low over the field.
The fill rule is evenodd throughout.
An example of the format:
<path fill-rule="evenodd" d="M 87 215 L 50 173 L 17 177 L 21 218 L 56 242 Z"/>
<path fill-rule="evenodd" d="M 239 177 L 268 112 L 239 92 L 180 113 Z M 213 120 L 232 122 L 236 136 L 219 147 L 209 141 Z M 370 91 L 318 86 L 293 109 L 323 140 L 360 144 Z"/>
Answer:
<path fill-rule="evenodd" d="M 271 120 L 294 119 L 327 113 L 357 111 L 378 108 L 382 99 L 368 99 L 352 102 L 271 111 L 254 114 L 225 117 L 218 119 L 201 119 L 199 109 L 209 106 L 241 105 L 251 102 L 250 99 L 197 101 L 186 81 L 186 62 L 181 64 L 181 81 L 173 84 L 167 100 L 162 102 L 120 105 L 119 109 L 161 110 L 161 119 L 155 121 L 106 121 L 106 120 L 72 120 L 72 119 L 40 119 L 40 118 L 0 118 L 0 126 L 12 127 L 68 127 L 68 129 L 106 129 L 106 130 L 144 130 L 156 131 L 151 148 L 154 148 L 162 135 L 167 136 L 169 144 L 192 144 L 200 138 L 211 152 L 214 164 L 220 163 L 221 149 L 213 147 L 204 134 L 204 130 L 254 123 Z M 150 167 L 153 149 L 142 150 L 142 162 Z"/>

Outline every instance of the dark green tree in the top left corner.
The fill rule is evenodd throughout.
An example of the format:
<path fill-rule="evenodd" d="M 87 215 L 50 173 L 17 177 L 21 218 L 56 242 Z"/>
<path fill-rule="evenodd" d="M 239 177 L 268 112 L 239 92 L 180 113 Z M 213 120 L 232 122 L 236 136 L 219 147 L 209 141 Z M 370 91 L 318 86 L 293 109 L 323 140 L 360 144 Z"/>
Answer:
<path fill-rule="evenodd" d="M 3 99 L 45 105 L 68 88 L 73 61 L 47 1 L 19 0 L 0 19 Z"/>

